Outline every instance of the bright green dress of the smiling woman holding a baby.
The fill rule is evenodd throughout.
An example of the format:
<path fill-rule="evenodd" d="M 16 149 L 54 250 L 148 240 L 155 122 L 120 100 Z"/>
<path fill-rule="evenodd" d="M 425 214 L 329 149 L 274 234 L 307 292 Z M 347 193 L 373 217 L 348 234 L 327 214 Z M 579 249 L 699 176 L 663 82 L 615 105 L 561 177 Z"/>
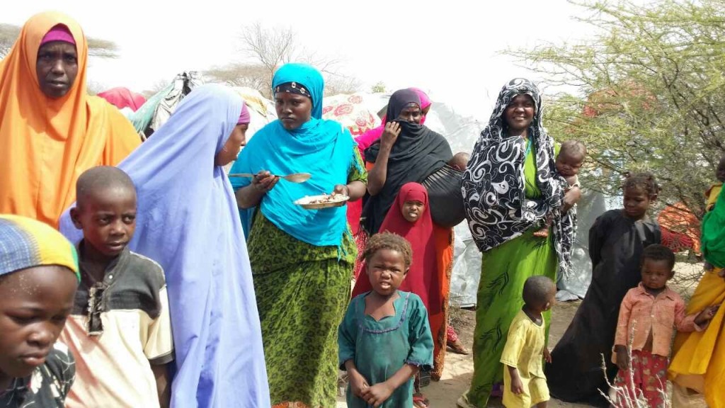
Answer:
<path fill-rule="evenodd" d="M 556 149 L 558 152 L 558 148 Z M 541 197 L 537 187 L 535 149 L 526 155 L 523 174 L 526 179 L 526 198 Z M 476 329 L 473 332 L 473 380 L 468 402 L 486 407 L 495 383 L 503 381 L 501 354 L 506 344 L 508 328 L 523 306 L 523 282 L 534 275 L 544 275 L 556 282 L 558 257 L 553 236 L 534 237 L 537 227 L 531 227 L 520 237 L 483 253 L 481 281 L 476 296 Z M 544 313 L 547 338 L 551 311 Z"/>

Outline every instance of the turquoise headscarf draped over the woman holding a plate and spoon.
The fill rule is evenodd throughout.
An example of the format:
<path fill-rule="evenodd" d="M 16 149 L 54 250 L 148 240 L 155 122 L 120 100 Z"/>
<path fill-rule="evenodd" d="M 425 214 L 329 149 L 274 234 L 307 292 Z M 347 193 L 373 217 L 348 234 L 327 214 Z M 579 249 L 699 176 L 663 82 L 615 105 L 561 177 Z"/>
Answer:
<path fill-rule="evenodd" d="M 306 195 L 329 193 L 336 184 L 347 184 L 353 163 L 355 141 L 347 128 L 336 121 L 322 119 L 325 82 L 318 70 L 306 64 L 286 64 L 272 80 L 273 89 L 281 83 L 304 85 L 312 97 L 312 118 L 288 131 L 280 121 L 257 131 L 231 168 L 231 173 L 272 174 L 310 173 L 305 183 L 280 180 L 262 198 L 260 210 L 276 227 L 297 240 L 311 245 L 339 247 L 347 231 L 347 206 L 305 210 L 294 201 Z M 362 169 L 361 169 L 362 170 Z M 250 179 L 235 180 L 233 187 L 249 185 Z"/>

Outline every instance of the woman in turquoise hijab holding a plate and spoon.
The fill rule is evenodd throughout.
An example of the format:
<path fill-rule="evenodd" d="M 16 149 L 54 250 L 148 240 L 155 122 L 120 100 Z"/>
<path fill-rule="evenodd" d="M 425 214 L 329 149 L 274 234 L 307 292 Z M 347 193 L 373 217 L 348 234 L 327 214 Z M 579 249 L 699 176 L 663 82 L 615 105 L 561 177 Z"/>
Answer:
<path fill-rule="evenodd" d="M 337 326 L 349 301 L 357 248 L 346 208 L 306 210 L 294 201 L 336 192 L 359 200 L 368 176 L 347 128 L 322 119 L 324 81 L 286 64 L 272 81 L 278 120 L 241 151 L 231 173 L 239 208 L 257 207 L 249 260 L 262 322 L 273 407 L 334 407 Z M 272 174 L 310 173 L 301 184 Z"/>

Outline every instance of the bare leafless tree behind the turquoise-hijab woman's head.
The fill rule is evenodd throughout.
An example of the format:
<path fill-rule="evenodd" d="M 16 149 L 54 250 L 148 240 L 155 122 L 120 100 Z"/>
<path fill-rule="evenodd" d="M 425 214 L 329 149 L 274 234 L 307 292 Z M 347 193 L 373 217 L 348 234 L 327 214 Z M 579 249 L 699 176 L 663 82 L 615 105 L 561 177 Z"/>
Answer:
<path fill-rule="evenodd" d="M 360 88 L 360 82 L 337 70 L 340 61 L 305 49 L 297 41 L 292 28 L 265 28 L 254 23 L 241 32 L 241 51 L 249 62 L 215 67 L 204 74 L 215 81 L 231 86 L 247 86 L 257 89 L 266 97 L 272 95 L 272 78 L 280 65 L 286 62 L 307 62 L 323 73 L 326 94 L 351 93 Z"/>

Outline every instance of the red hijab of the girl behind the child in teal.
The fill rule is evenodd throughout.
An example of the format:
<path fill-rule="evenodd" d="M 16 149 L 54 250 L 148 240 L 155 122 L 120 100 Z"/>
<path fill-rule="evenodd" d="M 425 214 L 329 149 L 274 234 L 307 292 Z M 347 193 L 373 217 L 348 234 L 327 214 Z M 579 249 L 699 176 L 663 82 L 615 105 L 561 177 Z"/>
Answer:
<path fill-rule="evenodd" d="M 402 216 L 402 208 L 405 201 L 420 200 L 426 206 L 423 214 L 411 223 Z M 400 192 L 395 198 L 388 215 L 380 227 L 380 232 L 394 232 L 410 242 L 413 248 L 413 264 L 405 280 L 400 285 L 400 290 L 413 292 L 420 296 L 428 309 L 428 314 L 437 314 L 442 310 L 442 298 L 440 280 L 438 278 L 438 261 L 436 259 L 436 241 L 434 237 L 433 220 L 428 209 L 428 191 L 418 183 L 407 183 L 400 187 Z M 361 274 L 362 275 L 362 274 Z M 355 282 L 352 290 L 353 297 L 372 290 L 370 280 L 361 276 Z"/>

